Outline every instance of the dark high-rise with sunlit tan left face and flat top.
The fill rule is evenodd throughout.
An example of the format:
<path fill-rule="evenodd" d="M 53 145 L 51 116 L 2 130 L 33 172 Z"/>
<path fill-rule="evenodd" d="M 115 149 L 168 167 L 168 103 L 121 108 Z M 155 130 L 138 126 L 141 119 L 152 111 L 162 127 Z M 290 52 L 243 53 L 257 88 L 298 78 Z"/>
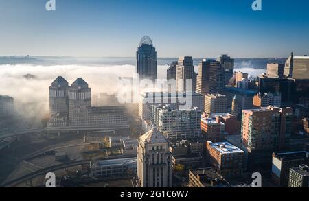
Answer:
<path fill-rule="evenodd" d="M 224 83 L 220 80 L 220 62 L 203 59 L 198 64 L 196 91 L 203 95 L 222 91 Z"/>

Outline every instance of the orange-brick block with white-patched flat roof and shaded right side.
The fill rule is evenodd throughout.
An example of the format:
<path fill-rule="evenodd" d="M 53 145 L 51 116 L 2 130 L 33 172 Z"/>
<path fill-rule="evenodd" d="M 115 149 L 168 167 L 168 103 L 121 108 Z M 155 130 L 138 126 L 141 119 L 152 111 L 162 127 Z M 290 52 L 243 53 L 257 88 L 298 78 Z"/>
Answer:
<path fill-rule="evenodd" d="M 207 158 L 209 164 L 223 176 L 231 178 L 242 174 L 242 157 L 244 151 L 228 142 L 212 143 L 207 141 Z"/>

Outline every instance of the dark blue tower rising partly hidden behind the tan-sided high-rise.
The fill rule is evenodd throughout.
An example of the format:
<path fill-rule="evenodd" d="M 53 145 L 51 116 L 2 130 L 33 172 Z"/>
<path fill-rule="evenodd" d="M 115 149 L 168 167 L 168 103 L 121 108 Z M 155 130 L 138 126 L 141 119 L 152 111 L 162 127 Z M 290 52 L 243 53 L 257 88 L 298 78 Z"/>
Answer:
<path fill-rule="evenodd" d="M 217 59 L 220 62 L 223 70 L 224 85 L 232 85 L 232 78 L 234 73 L 234 59 L 226 54 L 222 54 L 220 58 Z"/>

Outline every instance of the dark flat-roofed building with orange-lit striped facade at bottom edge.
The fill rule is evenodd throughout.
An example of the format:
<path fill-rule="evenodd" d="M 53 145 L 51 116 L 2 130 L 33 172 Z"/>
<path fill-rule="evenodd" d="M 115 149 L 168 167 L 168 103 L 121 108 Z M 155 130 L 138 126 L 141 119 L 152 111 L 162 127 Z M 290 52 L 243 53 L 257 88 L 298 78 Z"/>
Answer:
<path fill-rule="evenodd" d="M 229 183 L 211 167 L 190 169 L 189 187 L 230 187 Z"/>

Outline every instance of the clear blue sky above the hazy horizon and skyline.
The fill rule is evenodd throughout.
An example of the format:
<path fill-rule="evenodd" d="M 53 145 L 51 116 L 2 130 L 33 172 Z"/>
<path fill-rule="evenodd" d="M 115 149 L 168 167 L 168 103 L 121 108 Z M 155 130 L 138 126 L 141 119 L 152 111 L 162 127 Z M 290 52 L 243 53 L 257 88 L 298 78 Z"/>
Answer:
<path fill-rule="evenodd" d="M 159 57 L 309 54 L 309 1 L 0 0 L 0 55 L 135 56 L 142 36 Z"/>

